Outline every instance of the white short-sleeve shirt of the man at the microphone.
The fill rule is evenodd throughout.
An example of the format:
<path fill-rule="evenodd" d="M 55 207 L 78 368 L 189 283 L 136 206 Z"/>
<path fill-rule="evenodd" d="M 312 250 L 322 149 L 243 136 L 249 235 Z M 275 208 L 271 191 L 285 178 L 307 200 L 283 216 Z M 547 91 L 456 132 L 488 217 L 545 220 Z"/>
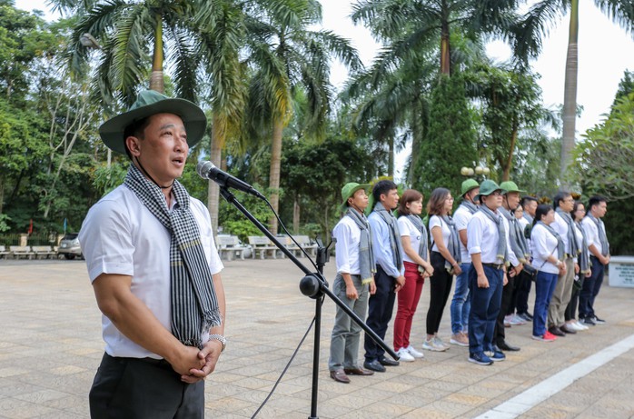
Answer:
<path fill-rule="evenodd" d="M 207 208 L 190 197 L 190 208 L 201 232 L 212 274 L 223 269 L 213 242 Z M 171 331 L 170 234 L 127 186 L 121 185 L 88 211 L 79 233 L 88 275 L 132 276 L 132 292 Z M 160 358 L 134 344 L 102 315 L 105 352 L 111 356 Z M 204 336 L 203 336 L 204 339 Z"/>

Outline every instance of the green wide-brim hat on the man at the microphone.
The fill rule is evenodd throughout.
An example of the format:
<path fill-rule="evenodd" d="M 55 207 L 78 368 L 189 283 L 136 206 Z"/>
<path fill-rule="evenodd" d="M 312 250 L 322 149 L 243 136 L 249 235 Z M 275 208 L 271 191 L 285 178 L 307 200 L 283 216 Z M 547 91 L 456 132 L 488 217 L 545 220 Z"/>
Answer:
<path fill-rule="evenodd" d="M 178 115 L 187 131 L 187 144 L 191 147 L 203 138 L 207 127 L 207 117 L 203 109 L 185 99 L 167 97 L 154 90 L 139 93 L 136 102 L 127 112 L 116 115 L 99 127 L 99 135 L 111 150 L 125 154 L 125 128 L 136 121 L 156 114 Z"/>

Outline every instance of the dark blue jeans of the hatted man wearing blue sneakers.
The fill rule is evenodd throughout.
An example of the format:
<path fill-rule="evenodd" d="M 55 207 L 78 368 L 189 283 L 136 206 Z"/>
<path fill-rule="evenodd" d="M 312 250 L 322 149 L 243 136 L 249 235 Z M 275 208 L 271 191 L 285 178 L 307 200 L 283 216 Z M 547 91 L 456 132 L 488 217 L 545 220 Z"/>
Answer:
<path fill-rule="evenodd" d="M 483 266 L 489 280 L 489 288 L 478 287 L 478 273 L 471 266 L 469 272 L 469 293 L 471 311 L 469 313 L 469 353 L 490 351 L 493 347 L 495 320 L 500 313 L 504 271 L 491 266 Z"/>

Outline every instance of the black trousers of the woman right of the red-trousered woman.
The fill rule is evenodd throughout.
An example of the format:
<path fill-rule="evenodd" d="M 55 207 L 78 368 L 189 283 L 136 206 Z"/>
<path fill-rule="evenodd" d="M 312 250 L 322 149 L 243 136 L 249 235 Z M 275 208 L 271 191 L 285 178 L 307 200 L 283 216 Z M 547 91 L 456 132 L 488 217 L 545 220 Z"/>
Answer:
<path fill-rule="evenodd" d="M 453 275 L 445 269 L 445 258 L 431 252 L 433 275 L 430 276 L 430 308 L 427 310 L 427 334 L 436 334 L 441 327 L 442 312 L 451 294 Z"/>

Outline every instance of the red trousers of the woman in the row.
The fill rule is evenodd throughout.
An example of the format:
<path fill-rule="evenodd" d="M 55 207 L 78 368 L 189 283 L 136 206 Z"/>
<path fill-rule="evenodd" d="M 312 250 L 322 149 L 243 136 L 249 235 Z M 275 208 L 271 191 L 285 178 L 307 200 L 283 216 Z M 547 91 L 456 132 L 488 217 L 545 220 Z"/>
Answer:
<path fill-rule="evenodd" d="M 418 272 L 418 264 L 411 262 L 403 262 L 403 264 L 405 264 L 405 286 L 397 293 L 399 305 L 394 320 L 395 351 L 410 345 L 411 320 L 421 299 L 422 284 L 425 284 L 425 279 Z"/>

